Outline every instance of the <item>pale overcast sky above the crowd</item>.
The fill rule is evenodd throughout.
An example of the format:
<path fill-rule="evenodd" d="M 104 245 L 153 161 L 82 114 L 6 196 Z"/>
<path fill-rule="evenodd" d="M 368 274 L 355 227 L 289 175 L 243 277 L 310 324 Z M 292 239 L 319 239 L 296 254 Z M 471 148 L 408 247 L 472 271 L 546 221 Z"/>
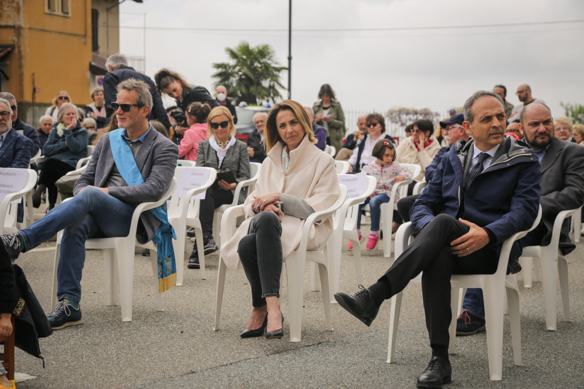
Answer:
<path fill-rule="evenodd" d="M 126 1 L 120 12 L 147 13 L 148 27 L 287 29 L 287 0 Z M 582 0 L 293 0 L 293 29 L 462 26 L 584 19 Z M 142 15 L 120 15 L 121 26 L 142 26 Z M 141 29 L 120 29 L 120 51 L 143 55 Z M 168 67 L 211 90 L 213 62 L 225 47 L 267 43 L 287 65 L 282 32 L 147 30 L 146 73 Z M 345 109 L 385 111 L 460 107 L 479 89 L 529 83 L 554 117 L 560 101 L 584 104 L 584 23 L 409 31 L 293 31 L 292 99 L 317 100 L 330 83 Z M 281 79 L 287 85 L 287 73 Z M 214 90 L 211 90 L 213 93 Z M 286 91 L 282 91 L 284 97 Z"/>

